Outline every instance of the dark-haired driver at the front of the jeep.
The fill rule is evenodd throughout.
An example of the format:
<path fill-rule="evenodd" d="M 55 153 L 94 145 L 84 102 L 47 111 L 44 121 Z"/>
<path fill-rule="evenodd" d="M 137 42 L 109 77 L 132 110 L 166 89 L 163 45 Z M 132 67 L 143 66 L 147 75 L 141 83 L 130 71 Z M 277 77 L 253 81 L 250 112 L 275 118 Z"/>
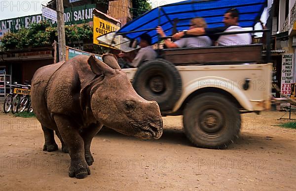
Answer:
<path fill-rule="evenodd" d="M 134 59 L 126 53 L 119 53 L 118 57 L 125 58 L 129 62 L 128 65 L 135 68 L 137 68 L 143 61 L 152 60 L 157 57 L 156 51 L 151 46 L 151 37 L 148 34 L 142 34 L 140 36 L 139 45 L 141 49 Z"/>

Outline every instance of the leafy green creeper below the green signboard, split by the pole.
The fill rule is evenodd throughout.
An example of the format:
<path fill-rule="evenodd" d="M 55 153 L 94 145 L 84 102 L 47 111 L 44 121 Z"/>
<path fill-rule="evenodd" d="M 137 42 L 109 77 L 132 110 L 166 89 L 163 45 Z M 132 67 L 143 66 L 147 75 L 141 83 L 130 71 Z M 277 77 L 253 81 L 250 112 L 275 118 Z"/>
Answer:
<path fill-rule="evenodd" d="M 93 31 L 89 25 L 73 25 L 65 27 L 66 44 L 75 40 L 92 40 Z M 58 41 L 57 28 L 46 21 L 32 24 L 30 29 L 22 28 L 17 33 L 6 33 L 2 39 L 3 49 L 22 49 L 28 47 L 51 46 Z"/>

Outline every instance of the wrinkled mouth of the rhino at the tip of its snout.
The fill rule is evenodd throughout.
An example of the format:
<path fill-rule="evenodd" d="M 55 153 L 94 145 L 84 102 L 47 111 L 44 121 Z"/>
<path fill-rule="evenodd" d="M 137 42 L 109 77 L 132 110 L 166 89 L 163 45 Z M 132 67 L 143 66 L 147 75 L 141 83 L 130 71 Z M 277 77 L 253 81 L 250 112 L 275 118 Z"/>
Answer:
<path fill-rule="evenodd" d="M 133 128 L 135 128 L 136 134 L 135 137 L 140 139 L 159 139 L 162 135 L 162 123 L 157 124 L 155 122 L 150 123 L 131 123 Z"/>

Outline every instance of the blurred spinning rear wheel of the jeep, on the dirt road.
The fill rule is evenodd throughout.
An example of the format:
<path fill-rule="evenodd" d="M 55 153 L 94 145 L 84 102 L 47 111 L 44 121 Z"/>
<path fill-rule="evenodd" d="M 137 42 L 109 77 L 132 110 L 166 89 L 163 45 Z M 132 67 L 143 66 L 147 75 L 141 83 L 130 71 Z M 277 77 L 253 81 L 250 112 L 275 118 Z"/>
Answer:
<path fill-rule="evenodd" d="M 183 123 L 187 138 L 197 147 L 224 149 L 239 135 L 238 108 L 218 93 L 204 93 L 185 106 Z"/>

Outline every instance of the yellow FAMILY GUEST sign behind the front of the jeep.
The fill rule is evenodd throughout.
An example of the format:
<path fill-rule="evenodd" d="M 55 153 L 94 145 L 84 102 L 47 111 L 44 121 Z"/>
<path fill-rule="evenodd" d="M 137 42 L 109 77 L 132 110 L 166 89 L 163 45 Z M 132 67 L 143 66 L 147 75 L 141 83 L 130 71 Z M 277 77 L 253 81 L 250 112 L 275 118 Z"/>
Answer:
<path fill-rule="evenodd" d="M 110 47 L 106 44 L 99 43 L 97 38 L 110 32 L 117 31 L 120 27 L 117 25 L 94 16 L 94 44 Z M 112 48 L 112 47 L 110 47 Z"/>

